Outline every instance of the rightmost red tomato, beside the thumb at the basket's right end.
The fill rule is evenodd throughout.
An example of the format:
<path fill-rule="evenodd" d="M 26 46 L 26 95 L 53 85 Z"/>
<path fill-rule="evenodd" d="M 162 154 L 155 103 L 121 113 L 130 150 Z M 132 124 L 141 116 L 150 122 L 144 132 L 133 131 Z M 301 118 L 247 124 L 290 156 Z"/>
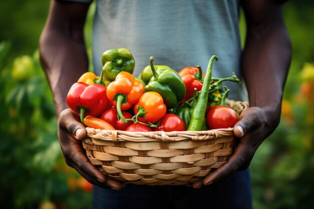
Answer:
<path fill-rule="evenodd" d="M 206 115 L 206 123 L 210 129 L 232 128 L 238 121 L 238 113 L 227 106 L 214 106 Z"/>

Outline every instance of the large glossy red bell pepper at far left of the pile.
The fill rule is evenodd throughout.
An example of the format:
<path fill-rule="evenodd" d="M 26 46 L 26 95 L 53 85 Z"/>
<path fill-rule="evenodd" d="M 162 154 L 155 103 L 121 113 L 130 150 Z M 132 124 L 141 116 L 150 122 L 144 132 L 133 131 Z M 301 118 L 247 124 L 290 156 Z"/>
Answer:
<path fill-rule="evenodd" d="M 84 124 L 84 116 L 97 117 L 101 115 L 109 105 L 106 95 L 106 87 L 101 84 L 88 85 L 77 82 L 70 88 L 66 102 L 75 112 L 80 114 Z"/>

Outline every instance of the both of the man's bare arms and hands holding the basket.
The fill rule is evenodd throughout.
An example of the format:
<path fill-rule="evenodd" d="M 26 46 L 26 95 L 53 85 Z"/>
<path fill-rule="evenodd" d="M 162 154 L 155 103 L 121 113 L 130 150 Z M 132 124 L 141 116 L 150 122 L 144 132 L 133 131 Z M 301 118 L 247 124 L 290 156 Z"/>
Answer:
<path fill-rule="evenodd" d="M 280 121 L 281 100 L 291 56 L 291 46 L 282 19 L 282 1 L 242 1 L 247 20 L 247 37 L 242 54 L 242 74 L 250 108 L 235 125 L 239 143 L 222 167 L 194 188 L 226 179 L 247 168 L 259 145 Z M 90 183 L 119 190 L 125 184 L 106 178 L 87 159 L 80 140 L 86 135 L 78 115 L 66 104 L 71 85 L 87 71 L 83 27 L 88 4 L 51 2 L 50 13 L 40 39 L 40 56 L 55 102 L 58 137 L 67 164 Z M 210 55 L 209 55 L 210 56 Z"/>

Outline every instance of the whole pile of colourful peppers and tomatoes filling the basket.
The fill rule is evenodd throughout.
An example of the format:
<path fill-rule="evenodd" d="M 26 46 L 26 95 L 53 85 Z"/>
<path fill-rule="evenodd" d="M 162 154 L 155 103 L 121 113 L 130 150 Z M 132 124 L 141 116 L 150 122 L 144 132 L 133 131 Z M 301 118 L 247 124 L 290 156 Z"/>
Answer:
<path fill-rule="evenodd" d="M 216 55 L 206 73 L 200 66 L 175 71 L 153 65 L 153 57 L 139 77 L 132 75 L 135 61 L 128 49 L 102 55 L 102 72 L 84 73 L 67 95 L 68 106 L 88 127 L 125 131 L 200 131 L 233 127 L 238 113 L 226 105 L 229 89 L 224 81 L 240 84 L 232 73 L 213 78 Z"/>

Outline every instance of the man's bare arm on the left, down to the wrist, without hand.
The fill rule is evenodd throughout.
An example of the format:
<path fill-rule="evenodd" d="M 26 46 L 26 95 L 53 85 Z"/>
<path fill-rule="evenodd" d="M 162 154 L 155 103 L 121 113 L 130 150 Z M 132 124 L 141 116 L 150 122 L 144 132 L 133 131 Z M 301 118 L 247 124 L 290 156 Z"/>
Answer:
<path fill-rule="evenodd" d="M 51 1 L 49 16 L 40 38 L 40 56 L 47 75 L 57 116 L 68 108 L 71 85 L 88 70 L 84 24 L 88 4 Z"/>

